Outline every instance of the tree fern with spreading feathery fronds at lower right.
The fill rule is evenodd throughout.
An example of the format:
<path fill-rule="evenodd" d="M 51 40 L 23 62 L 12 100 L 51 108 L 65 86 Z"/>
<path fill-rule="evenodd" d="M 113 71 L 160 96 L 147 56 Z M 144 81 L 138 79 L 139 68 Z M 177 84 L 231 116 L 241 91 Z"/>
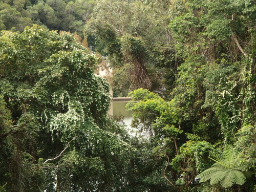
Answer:
<path fill-rule="evenodd" d="M 245 183 L 246 177 L 242 172 L 243 166 L 241 166 L 243 158 L 234 154 L 231 147 L 224 150 L 222 157 L 219 154 L 213 156 L 217 160 L 211 159 L 216 163 L 197 176 L 201 178 L 200 183 L 210 180 L 211 185 L 220 183 L 224 188 L 233 184 L 243 185 Z"/>

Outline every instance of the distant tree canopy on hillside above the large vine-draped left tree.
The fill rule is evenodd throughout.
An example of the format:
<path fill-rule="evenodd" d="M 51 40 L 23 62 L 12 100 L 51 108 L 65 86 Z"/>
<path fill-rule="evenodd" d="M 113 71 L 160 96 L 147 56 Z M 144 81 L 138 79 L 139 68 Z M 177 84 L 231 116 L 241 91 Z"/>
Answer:
<path fill-rule="evenodd" d="M 1 1 L 0 30 L 22 31 L 38 24 L 49 29 L 75 31 L 83 35 L 83 26 L 96 1 Z"/>

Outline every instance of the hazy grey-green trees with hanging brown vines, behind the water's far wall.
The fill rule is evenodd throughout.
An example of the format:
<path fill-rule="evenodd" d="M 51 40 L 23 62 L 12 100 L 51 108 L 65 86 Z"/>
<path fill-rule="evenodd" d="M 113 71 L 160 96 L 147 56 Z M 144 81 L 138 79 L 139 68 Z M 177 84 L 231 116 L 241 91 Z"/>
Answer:
<path fill-rule="evenodd" d="M 157 46 L 164 49 L 163 41 L 168 38 L 168 4 L 168 1 L 104 0 L 91 14 L 86 31 L 105 45 L 115 68 L 113 88 L 117 95 L 138 88 L 159 89 L 161 70 L 156 70 L 154 58 Z M 125 80 L 119 81 L 120 77 Z"/>

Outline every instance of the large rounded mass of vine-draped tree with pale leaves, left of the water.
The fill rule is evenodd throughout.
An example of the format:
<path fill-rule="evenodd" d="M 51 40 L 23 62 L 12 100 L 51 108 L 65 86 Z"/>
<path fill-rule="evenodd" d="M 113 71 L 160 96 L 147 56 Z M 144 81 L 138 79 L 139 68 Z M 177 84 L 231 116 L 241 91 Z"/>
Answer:
<path fill-rule="evenodd" d="M 0 185 L 117 190 L 131 146 L 108 117 L 109 84 L 94 74 L 95 55 L 37 25 L 0 39 Z"/>

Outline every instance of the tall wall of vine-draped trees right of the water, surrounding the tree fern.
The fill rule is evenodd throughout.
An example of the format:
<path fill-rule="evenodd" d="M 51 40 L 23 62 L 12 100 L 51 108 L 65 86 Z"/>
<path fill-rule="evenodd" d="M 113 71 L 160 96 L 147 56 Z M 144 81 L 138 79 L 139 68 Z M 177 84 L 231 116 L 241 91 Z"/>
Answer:
<path fill-rule="evenodd" d="M 156 66 L 174 74 L 163 76 L 170 94 L 141 89 L 129 94 L 133 125 L 147 130 L 155 156 L 166 161 L 159 168 L 177 190 L 253 191 L 255 13 L 253 1 L 172 1 L 172 51 L 167 58 L 161 50 L 151 53 L 159 58 Z M 208 158 L 229 145 L 233 155 L 244 152 L 240 160 L 225 156 L 225 150 L 219 159 Z M 210 185 L 199 185 L 200 177 Z"/>

